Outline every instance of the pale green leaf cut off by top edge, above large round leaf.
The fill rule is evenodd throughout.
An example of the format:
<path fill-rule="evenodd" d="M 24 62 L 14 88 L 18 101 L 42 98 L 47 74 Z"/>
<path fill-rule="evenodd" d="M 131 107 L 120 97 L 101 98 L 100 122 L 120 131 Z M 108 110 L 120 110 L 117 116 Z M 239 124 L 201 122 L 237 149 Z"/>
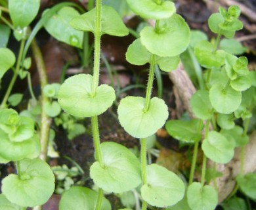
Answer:
<path fill-rule="evenodd" d="M 142 18 L 160 20 L 171 17 L 176 9 L 171 1 L 161 0 L 127 0 L 131 10 Z"/>

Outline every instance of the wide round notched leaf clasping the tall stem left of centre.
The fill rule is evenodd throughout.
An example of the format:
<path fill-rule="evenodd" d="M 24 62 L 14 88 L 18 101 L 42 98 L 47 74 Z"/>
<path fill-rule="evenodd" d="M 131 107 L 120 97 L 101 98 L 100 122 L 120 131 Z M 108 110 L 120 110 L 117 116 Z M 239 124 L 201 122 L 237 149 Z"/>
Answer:
<path fill-rule="evenodd" d="M 58 91 L 61 108 L 76 117 L 98 116 L 112 106 L 116 95 L 112 87 L 100 85 L 91 95 L 93 76 L 77 74 L 66 79 Z"/>

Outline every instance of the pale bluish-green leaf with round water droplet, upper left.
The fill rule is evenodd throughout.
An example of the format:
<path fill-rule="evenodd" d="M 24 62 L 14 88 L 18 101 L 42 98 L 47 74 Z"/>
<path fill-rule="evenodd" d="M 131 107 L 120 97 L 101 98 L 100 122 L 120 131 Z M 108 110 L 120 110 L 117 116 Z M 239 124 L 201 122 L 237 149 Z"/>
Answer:
<path fill-rule="evenodd" d="M 44 24 L 45 30 L 48 31 L 55 39 L 62 41 L 73 47 L 82 48 L 83 32 L 77 31 L 70 26 L 70 20 L 79 16 L 72 7 L 62 7 Z"/>

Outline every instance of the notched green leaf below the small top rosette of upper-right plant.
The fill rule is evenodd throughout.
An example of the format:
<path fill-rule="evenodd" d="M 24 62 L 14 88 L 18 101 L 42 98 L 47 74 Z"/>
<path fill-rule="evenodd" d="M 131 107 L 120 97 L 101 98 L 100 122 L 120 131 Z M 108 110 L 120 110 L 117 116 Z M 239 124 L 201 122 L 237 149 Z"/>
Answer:
<path fill-rule="evenodd" d="M 209 41 L 200 41 L 194 53 L 198 62 L 205 68 L 219 68 L 224 65 L 226 52 L 222 50 L 214 52 L 214 47 Z"/>

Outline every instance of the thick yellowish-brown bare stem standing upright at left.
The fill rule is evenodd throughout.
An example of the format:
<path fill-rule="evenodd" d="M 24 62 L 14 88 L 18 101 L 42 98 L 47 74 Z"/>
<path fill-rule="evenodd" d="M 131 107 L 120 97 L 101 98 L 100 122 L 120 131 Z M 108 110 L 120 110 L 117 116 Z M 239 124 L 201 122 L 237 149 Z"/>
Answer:
<path fill-rule="evenodd" d="M 32 52 L 33 57 L 35 58 L 35 64 L 37 66 L 37 71 L 39 74 L 39 81 L 41 86 L 41 129 L 40 129 L 40 143 L 41 143 L 41 153 L 40 158 L 44 161 L 47 158 L 47 149 L 48 149 L 48 141 L 49 141 L 49 132 L 51 126 L 51 117 L 47 116 L 45 112 L 45 105 L 49 102 L 49 98 L 43 93 L 43 89 L 45 85 L 47 85 L 47 74 L 45 64 L 43 62 L 43 55 L 35 41 L 33 39 L 32 44 Z"/>

